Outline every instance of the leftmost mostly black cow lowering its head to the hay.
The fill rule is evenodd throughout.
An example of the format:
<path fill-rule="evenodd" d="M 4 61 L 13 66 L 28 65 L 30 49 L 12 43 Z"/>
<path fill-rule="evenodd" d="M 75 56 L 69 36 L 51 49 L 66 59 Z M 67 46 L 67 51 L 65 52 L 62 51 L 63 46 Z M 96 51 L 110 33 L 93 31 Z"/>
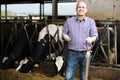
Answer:
<path fill-rule="evenodd" d="M 16 26 L 18 28 L 18 26 Z M 42 28 L 42 27 L 41 27 Z M 40 31 L 40 30 L 38 30 Z M 25 56 L 30 56 L 32 52 L 32 43 L 37 39 L 38 32 L 34 24 L 25 24 L 23 27 L 17 29 L 17 38 L 14 41 L 14 47 L 11 52 L 3 55 L 1 64 L 2 69 L 9 69 L 14 67 L 15 61 L 20 61 Z M 14 31 L 13 31 L 14 32 Z M 12 37 L 11 37 L 12 35 Z M 10 39 L 13 39 L 16 34 L 11 33 Z M 32 42 L 34 41 L 34 42 Z M 9 40 L 8 40 L 9 42 Z M 10 43 L 10 42 L 9 42 Z M 9 47 L 8 47 L 9 48 Z M 6 56 L 7 55 L 7 56 Z"/>

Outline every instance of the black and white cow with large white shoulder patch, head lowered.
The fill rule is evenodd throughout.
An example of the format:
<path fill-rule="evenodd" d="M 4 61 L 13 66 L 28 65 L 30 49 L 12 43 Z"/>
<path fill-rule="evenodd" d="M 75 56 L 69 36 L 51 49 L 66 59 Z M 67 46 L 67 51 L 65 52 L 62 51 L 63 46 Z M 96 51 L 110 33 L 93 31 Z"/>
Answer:
<path fill-rule="evenodd" d="M 56 34 L 56 32 L 58 32 Z M 56 26 L 55 24 L 49 24 L 44 27 L 38 36 L 38 41 L 33 47 L 33 52 L 31 56 L 23 59 L 20 62 L 20 65 L 17 67 L 17 71 L 20 72 L 29 72 L 34 65 L 40 60 L 44 60 L 47 58 L 49 54 L 49 46 L 50 42 L 57 43 L 58 41 L 61 42 L 61 46 L 63 47 L 63 40 L 62 40 L 62 26 Z M 54 38 L 54 39 L 53 39 Z M 59 39 L 59 40 L 58 40 Z M 56 46 L 55 46 L 56 47 Z M 60 54 L 57 54 L 58 56 Z M 62 58 L 62 57 L 61 57 Z M 57 58 L 58 59 L 58 58 Z"/>

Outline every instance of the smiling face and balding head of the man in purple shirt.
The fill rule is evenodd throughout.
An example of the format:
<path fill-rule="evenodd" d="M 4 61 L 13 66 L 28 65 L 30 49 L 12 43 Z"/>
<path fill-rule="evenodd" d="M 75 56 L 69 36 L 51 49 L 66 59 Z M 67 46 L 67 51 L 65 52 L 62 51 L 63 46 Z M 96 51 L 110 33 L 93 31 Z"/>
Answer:
<path fill-rule="evenodd" d="M 84 2 L 79 2 L 76 6 L 76 13 L 78 16 L 85 16 L 87 12 L 87 6 Z"/>

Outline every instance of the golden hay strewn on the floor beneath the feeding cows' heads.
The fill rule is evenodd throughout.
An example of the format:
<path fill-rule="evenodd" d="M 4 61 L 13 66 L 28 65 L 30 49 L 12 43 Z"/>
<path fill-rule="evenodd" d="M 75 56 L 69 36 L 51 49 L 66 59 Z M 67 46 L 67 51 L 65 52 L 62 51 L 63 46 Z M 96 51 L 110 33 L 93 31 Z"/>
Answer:
<path fill-rule="evenodd" d="M 20 73 L 19 71 L 15 71 L 15 69 L 9 70 L 0 70 L 0 80 L 64 80 L 64 77 L 57 74 L 55 76 L 46 76 L 40 72 L 32 72 L 32 73 Z M 79 80 L 75 78 L 75 80 Z M 102 80 L 97 78 L 90 78 L 89 80 Z"/>

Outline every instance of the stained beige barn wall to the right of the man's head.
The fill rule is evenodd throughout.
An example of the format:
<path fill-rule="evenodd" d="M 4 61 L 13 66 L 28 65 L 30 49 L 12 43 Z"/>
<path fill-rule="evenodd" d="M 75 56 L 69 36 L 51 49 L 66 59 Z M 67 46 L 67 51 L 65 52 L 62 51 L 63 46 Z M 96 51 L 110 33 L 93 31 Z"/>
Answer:
<path fill-rule="evenodd" d="M 104 20 L 113 18 L 120 20 L 120 0 L 84 0 L 88 4 L 87 15 L 96 19 Z M 115 5 L 115 7 L 113 7 Z M 113 9 L 114 8 L 114 9 Z"/>

